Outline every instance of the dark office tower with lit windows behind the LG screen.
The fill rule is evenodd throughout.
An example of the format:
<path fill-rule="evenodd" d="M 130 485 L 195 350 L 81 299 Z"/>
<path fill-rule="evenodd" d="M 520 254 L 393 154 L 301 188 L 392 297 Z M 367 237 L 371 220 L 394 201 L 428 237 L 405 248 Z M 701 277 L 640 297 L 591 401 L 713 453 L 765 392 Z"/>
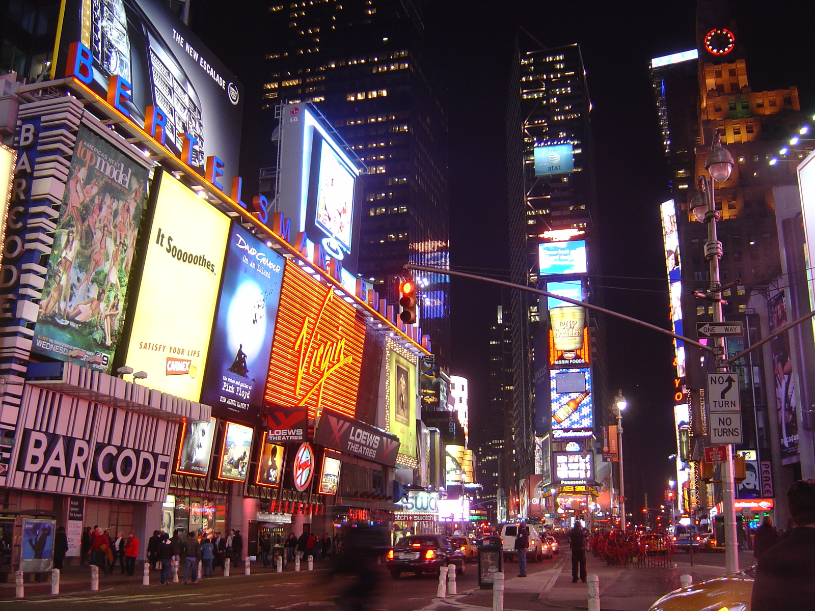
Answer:
<path fill-rule="evenodd" d="M 261 191 L 273 188 L 275 108 L 314 103 L 368 166 L 358 271 L 393 303 L 403 264 L 449 264 L 447 118 L 420 10 L 399 0 L 270 2 L 264 15 Z M 419 325 L 446 367 L 449 282 L 416 281 Z"/>

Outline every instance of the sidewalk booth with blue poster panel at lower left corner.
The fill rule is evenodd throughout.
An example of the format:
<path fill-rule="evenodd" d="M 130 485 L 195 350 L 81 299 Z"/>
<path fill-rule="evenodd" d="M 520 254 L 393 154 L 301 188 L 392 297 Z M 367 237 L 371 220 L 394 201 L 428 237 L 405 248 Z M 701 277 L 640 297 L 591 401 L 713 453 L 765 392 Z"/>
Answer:
<path fill-rule="evenodd" d="M 54 568 L 56 520 L 42 509 L 0 509 L 0 580 Z"/>

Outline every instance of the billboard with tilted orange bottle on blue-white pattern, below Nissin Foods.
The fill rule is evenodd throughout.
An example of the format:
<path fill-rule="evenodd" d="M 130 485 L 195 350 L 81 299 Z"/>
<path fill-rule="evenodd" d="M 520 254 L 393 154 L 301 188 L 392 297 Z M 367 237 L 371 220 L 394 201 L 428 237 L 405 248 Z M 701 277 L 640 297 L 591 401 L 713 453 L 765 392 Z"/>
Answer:
<path fill-rule="evenodd" d="M 592 371 L 558 369 L 549 374 L 553 439 L 591 437 L 593 428 Z"/>

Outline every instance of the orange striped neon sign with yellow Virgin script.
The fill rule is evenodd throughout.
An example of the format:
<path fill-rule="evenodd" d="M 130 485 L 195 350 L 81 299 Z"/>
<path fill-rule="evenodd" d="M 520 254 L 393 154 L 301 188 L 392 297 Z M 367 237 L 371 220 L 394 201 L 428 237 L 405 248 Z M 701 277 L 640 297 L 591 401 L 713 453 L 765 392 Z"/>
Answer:
<path fill-rule="evenodd" d="M 266 401 L 283 407 L 330 407 L 353 417 L 359 392 L 365 323 L 356 310 L 286 262 Z"/>

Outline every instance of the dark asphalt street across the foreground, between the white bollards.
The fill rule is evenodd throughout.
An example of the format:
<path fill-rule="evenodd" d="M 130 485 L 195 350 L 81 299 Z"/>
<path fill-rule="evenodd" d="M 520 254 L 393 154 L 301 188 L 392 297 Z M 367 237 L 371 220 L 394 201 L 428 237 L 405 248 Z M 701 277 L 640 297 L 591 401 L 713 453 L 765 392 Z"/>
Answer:
<path fill-rule="evenodd" d="M 556 556 L 557 557 L 557 556 Z M 553 560 L 530 562 L 528 573 L 553 566 Z M 515 562 L 505 565 L 509 577 L 517 573 Z M 134 583 L 106 586 L 103 582 L 98 592 L 68 591 L 57 597 L 27 595 L 22 600 L 0 601 L 3 611 L 180 611 L 201 609 L 213 611 L 227 609 L 337 609 L 334 597 L 350 584 L 349 578 L 330 578 L 327 569 L 300 573 L 263 573 L 249 577 L 235 575 L 230 578 L 216 576 L 201 579 L 196 585 L 183 583 L 168 586 L 143 587 Z M 403 575 L 398 580 L 390 577 L 384 565 L 379 574 L 379 588 L 373 609 L 387 611 L 415 611 L 429 606 L 436 596 L 438 578 L 433 575 Z M 468 564 L 464 575 L 457 578 L 459 593 L 478 587 L 478 565 Z M 112 607 L 115 605 L 115 607 Z"/>

